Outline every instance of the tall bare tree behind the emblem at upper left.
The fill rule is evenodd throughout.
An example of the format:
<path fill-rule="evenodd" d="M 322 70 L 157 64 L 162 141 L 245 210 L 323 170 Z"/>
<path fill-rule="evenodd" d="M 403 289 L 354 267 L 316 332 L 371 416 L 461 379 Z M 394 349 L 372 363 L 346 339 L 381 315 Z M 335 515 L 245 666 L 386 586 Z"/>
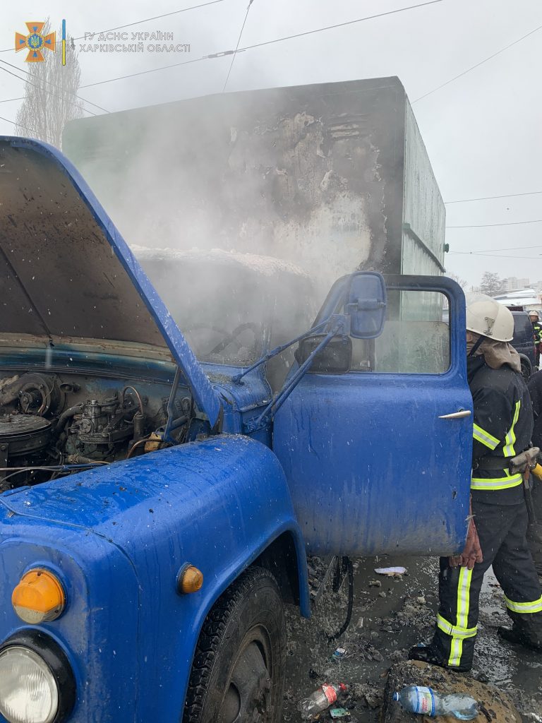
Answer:
<path fill-rule="evenodd" d="M 51 32 L 47 20 L 43 35 Z M 61 35 L 61 33 L 59 33 Z M 15 131 L 24 136 L 44 140 L 57 148 L 62 144 L 62 131 L 68 121 L 82 118 L 83 104 L 77 98 L 81 69 L 77 51 L 66 38 L 66 65 L 62 65 L 62 52 L 57 35 L 56 53 L 43 52 L 45 60 L 28 63 L 25 100 L 17 111 Z"/>

